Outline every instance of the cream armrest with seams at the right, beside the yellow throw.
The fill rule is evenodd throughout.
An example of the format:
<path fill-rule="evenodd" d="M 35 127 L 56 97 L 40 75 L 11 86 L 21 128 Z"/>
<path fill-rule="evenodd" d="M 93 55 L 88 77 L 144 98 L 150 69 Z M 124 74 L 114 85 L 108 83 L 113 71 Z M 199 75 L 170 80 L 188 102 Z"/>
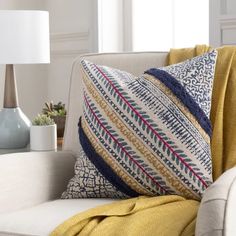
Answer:
<path fill-rule="evenodd" d="M 196 223 L 196 236 L 236 235 L 236 167 L 221 175 L 205 192 Z"/>

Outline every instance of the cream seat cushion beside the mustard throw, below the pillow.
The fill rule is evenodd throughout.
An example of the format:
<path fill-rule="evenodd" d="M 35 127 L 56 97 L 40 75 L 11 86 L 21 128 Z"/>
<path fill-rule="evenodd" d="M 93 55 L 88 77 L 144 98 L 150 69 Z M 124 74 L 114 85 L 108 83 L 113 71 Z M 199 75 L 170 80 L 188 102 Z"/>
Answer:
<path fill-rule="evenodd" d="M 71 216 L 112 201 L 114 200 L 55 200 L 24 210 L 0 214 L 0 235 L 49 235 Z"/>

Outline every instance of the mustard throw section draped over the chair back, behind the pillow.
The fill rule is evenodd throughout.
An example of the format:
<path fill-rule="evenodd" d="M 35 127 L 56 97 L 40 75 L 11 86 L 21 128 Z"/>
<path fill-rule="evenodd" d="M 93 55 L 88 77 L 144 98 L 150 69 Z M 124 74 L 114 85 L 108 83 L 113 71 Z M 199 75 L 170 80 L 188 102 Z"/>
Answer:
<path fill-rule="evenodd" d="M 209 50 L 210 47 L 206 45 L 172 49 L 168 64 L 184 61 Z M 211 106 L 214 180 L 236 165 L 236 47 L 225 46 L 218 48 L 217 51 Z"/>

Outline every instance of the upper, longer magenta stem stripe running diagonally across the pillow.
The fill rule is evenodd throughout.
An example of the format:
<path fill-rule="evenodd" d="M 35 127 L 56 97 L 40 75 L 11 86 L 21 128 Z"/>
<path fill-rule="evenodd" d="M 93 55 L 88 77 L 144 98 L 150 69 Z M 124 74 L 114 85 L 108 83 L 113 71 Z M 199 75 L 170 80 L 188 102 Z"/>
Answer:
<path fill-rule="evenodd" d="M 202 184 L 207 188 L 208 185 L 206 182 L 192 169 L 191 166 L 188 165 L 184 161 L 184 159 L 176 153 L 173 148 L 164 140 L 162 137 L 156 132 L 155 129 L 152 128 L 152 126 L 132 107 L 132 105 L 126 100 L 126 98 L 119 92 L 119 90 L 115 87 L 115 85 L 112 83 L 112 81 L 98 68 L 95 64 L 93 64 L 96 69 L 103 75 L 103 77 L 109 82 L 109 84 L 113 87 L 113 89 L 116 91 L 116 93 L 125 101 L 125 103 L 136 113 L 137 116 L 140 117 L 140 119 L 152 130 L 152 132 L 164 143 L 164 145 L 169 148 L 169 150 L 186 166 L 188 169 L 202 182 Z"/>

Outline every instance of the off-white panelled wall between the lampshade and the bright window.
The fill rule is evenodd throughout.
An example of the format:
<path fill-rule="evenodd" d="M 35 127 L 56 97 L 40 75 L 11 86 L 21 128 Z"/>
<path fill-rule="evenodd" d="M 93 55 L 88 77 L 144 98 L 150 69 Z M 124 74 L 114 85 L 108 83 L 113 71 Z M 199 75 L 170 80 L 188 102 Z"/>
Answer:
<path fill-rule="evenodd" d="M 51 64 L 48 99 L 67 103 L 73 60 L 97 51 L 96 0 L 48 0 Z"/>

